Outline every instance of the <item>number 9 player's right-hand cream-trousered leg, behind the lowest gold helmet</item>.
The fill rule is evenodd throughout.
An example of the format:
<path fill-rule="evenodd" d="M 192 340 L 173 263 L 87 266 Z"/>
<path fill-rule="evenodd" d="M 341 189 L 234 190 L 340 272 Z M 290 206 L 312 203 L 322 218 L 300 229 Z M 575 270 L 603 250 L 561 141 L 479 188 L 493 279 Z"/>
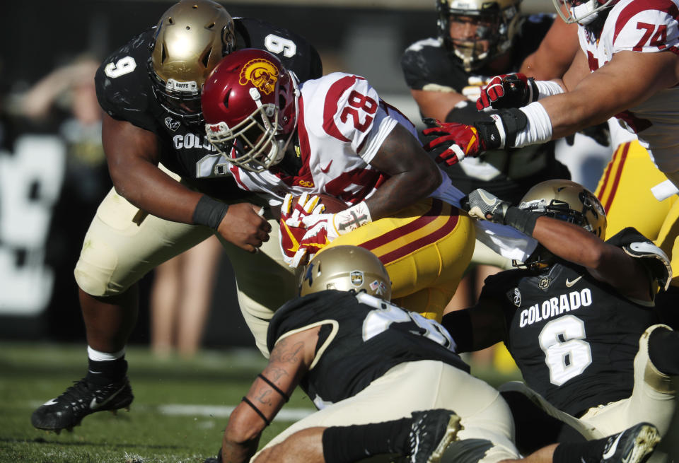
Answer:
<path fill-rule="evenodd" d="M 222 244 L 236 274 L 240 311 L 255 336 L 257 348 L 268 358 L 269 320 L 278 307 L 297 295 L 298 281 L 295 269 L 283 260 L 278 240 L 279 225 L 268 208 L 265 209 L 265 217 L 271 225 L 271 233 L 269 240 L 255 254 L 243 252 L 224 241 Z"/>

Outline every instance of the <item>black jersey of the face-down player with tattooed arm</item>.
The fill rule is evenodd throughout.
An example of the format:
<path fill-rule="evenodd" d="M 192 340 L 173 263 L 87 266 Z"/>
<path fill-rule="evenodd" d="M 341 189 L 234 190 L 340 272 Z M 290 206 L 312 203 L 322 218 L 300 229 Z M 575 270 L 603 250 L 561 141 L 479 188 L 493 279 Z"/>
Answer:
<path fill-rule="evenodd" d="M 314 367 L 300 383 L 318 408 L 352 397 L 403 362 L 434 360 L 469 372 L 440 324 L 365 293 L 295 298 L 269 324 L 269 351 L 287 332 L 322 324 Z"/>

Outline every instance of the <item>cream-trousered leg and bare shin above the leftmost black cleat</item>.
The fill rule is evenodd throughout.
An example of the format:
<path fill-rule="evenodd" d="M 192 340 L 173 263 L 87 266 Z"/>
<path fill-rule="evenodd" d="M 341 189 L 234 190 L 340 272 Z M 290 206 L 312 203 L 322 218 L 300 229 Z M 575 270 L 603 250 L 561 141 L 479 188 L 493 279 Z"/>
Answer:
<path fill-rule="evenodd" d="M 88 345 L 103 352 L 124 348 L 137 317 L 137 281 L 211 233 L 207 227 L 146 215 L 111 189 L 86 233 L 74 271 Z"/>

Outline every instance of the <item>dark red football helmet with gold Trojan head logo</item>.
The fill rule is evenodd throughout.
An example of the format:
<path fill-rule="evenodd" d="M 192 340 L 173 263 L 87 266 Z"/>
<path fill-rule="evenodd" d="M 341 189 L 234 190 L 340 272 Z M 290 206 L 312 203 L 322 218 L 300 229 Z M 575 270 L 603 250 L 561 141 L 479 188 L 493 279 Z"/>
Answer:
<path fill-rule="evenodd" d="M 201 104 L 207 139 L 240 168 L 279 163 L 297 122 L 296 76 L 260 49 L 226 55 L 207 77 Z"/>

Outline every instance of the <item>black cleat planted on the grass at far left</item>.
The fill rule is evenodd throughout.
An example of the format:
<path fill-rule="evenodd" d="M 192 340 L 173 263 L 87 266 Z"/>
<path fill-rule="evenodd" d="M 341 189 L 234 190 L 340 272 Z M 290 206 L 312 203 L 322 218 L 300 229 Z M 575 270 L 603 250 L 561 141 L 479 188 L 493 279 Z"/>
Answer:
<path fill-rule="evenodd" d="M 105 386 L 93 385 L 84 378 L 57 397 L 39 406 L 30 416 L 30 423 L 38 429 L 59 433 L 62 429 L 73 430 L 81 420 L 96 411 L 128 409 L 132 404 L 132 388 L 124 377 L 119 382 Z"/>

